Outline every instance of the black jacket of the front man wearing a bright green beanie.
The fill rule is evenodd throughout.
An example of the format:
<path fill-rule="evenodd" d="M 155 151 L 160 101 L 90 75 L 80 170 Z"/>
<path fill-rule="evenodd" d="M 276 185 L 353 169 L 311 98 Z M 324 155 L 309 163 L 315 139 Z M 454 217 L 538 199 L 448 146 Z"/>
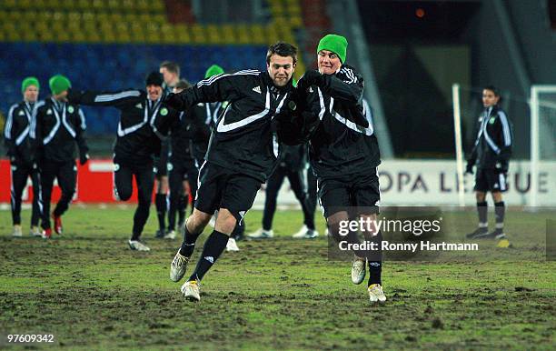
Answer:
<path fill-rule="evenodd" d="M 279 129 L 281 139 L 289 144 L 308 139 L 311 165 L 320 178 L 374 172 L 381 156 L 371 111 L 362 103 L 362 76 L 342 65 L 315 84 L 304 79 L 293 97 L 298 115 Z"/>

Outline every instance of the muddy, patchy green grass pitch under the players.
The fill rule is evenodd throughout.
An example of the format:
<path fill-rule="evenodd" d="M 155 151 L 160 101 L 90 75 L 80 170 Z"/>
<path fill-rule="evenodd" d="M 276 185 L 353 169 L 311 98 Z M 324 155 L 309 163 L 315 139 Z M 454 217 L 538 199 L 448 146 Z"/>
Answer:
<path fill-rule="evenodd" d="M 202 301 L 185 301 L 181 283 L 168 278 L 180 240 L 154 239 L 152 213 L 144 234 L 152 251 L 132 252 L 132 216 L 131 208 L 73 206 L 65 235 L 45 241 L 12 238 L 10 214 L 0 211 L 0 348 L 556 348 L 550 213 L 508 216 L 509 248 L 483 241 L 478 252 L 438 262 L 386 262 L 383 306 L 370 305 L 365 284 L 351 283 L 349 262 L 328 259 L 325 237 L 290 238 L 299 211 L 277 213 L 272 240 L 224 253 L 204 278 Z M 261 216 L 249 213 L 248 231 Z M 444 216 L 452 241 L 473 229 L 473 214 Z M 15 334 L 54 342 L 9 343 Z"/>

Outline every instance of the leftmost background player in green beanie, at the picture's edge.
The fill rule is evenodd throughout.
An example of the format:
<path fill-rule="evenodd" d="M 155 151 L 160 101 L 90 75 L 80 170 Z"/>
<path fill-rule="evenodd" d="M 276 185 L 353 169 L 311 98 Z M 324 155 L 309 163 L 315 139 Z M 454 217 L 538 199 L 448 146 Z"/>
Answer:
<path fill-rule="evenodd" d="M 10 107 L 5 121 L 5 145 L 12 169 L 10 203 L 12 205 L 12 221 L 14 224 L 13 236 L 23 236 L 21 229 L 21 196 L 29 176 L 33 182 L 31 235 L 41 236 L 38 229 L 41 185 L 35 154 L 29 137 L 31 124 L 35 119 L 36 106 L 38 105 L 39 88 L 39 81 L 34 76 L 25 78 L 21 84 L 24 100 Z"/>

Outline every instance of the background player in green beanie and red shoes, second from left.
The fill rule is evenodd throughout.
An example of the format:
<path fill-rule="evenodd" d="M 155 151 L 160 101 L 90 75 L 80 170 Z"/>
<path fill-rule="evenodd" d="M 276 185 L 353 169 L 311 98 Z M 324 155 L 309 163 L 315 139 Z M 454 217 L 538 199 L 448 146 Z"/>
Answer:
<path fill-rule="evenodd" d="M 31 128 L 41 174 L 41 226 L 45 230 L 45 237 L 52 235 L 49 215 L 55 178 L 62 189 L 62 196 L 52 213 L 55 232 L 58 234 L 63 231 L 62 215 L 75 194 L 77 165 L 74 143 L 79 149 L 79 163 L 84 165 L 89 159 L 89 148 L 84 138 L 86 125 L 83 111 L 79 105 L 67 101 L 70 81 L 64 75 L 55 75 L 50 78 L 49 85 L 52 96 L 37 107 L 35 124 Z"/>

